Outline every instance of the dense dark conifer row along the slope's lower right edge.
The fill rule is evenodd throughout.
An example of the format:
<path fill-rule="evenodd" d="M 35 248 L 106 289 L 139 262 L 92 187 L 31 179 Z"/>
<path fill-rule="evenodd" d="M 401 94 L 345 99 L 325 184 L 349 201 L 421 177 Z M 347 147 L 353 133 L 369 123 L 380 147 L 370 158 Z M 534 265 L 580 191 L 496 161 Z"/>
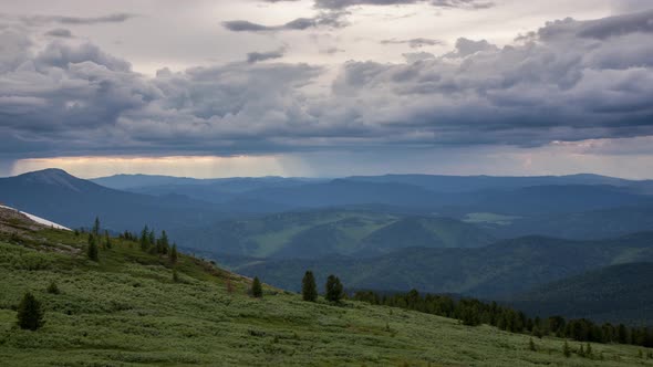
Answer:
<path fill-rule="evenodd" d="M 562 316 L 529 317 L 524 312 L 474 298 L 454 300 L 447 295 L 421 295 L 416 290 L 407 293 L 380 295 L 373 291 L 359 291 L 353 300 L 373 305 L 385 305 L 456 318 L 464 325 L 487 324 L 499 329 L 530 334 L 536 337 L 554 335 L 578 342 L 632 344 L 653 347 L 652 327 L 629 327 L 623 324 L 598 324 L 587 318 L 566 319 Z"/>

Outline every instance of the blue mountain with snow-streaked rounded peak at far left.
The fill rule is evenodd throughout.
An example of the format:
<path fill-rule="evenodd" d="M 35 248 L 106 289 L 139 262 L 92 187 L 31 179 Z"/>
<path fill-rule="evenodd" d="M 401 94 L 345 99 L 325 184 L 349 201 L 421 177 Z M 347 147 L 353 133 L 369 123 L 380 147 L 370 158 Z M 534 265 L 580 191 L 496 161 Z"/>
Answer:
<path fill-rule="evenodd" d="M 61 169 L 0 178 L 0 201 L 69 228 L 89 227 L 89 218 L 95 216 L 115 230 L 138 230 L 146 223 L 173 228 L 225 217 L 206 202 L 183 196 L 157 198 L 118 191 Z"/>

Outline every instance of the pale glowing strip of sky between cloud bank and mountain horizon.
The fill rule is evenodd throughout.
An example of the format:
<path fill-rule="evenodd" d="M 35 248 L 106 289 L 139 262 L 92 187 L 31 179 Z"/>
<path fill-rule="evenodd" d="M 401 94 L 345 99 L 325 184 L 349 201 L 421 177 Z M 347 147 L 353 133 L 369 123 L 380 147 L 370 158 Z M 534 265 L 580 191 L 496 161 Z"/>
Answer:
<path fill-rule="evenodd" d="M 436 156 L 438 156 L 436 154 Z M 545 155 L 546 156 L 546 155 Z M 353 161 L 351 170 L 334 170 L 333 165 L 350 159 Z M 614 158 L 612 156 L 611 158 Z M 619 158 L 619 157 L 618 157 Z M 630 175 L 614 175 L 601 171 L 595 165 L 589 164 L 601 157 L 580 157 L 579 165 L 570 165 L 567 169 L 551 170 L 547 161 L 537 154 L 525 156 L 510 155 L 485 158 L 488 160 L 486 169 L 479 170 L 468 165 L 413 165 L 402 170 L 387 169 L 383 162 L 369 165 L 369 169 L 359 170 L 356 159 L 366 157 L 354 155 L 334 157 L 307 157 L 292 155 L 269 156 L 80 156 L 27 158 L 15 160 L 7 170 L 9 176 L 38 171 L 48 168 L 59 168 L 66 172 L 93 179 L 114 175 L 157 175 L 180 178 L 211 179 L 231 177 L 307 177 L 307 178 L 338 178 L 349 176 L 383 176 L 383 175 L 442 175 L 442 176 L 496 176 L 496 177 L 533 177 L 533 176 L 569 176 L 569 175 L 600 175 L 630 180 L 647 180 L 649 177 L 632 177 Z M 395 159 L 402 159 L 397 156 Z M 431 159 L 429 159 L 431 160 Z M 443 159 L 445 160 L 445 159 Z M 496 162 L 504 162 L 506 167 L 497 167 Z M 620 165 L 619 159 L 614 162 Z M 390 166 L 393 167 L 393 166 Z M 645 174 L 645 172 L 644 172 Z"/>

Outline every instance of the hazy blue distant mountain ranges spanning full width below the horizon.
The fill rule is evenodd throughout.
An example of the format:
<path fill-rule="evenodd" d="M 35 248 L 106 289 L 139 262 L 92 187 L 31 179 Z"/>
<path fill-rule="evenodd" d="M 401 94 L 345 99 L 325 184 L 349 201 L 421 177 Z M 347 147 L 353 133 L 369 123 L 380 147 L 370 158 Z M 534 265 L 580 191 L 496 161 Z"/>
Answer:
<path fill-rule="evenodd" d="M 341 179 L 118 175 L 82 180 L 62 170 L 48 169 L 0 179 L 0 201 L 53 218 L 68 227 L 89 226 L 87 216 L 92 213 L 116 231 L 137 230 L 144 224 L 167 228 L 179 234 L 176 240 L 180 244 L 198 250 L 312 256 L 332 252 L 353 254 L 359 245 L 366 248 L 361 254 L 379 254 L 415 244 L 442 248 L 487 242 L 478 238 L 470 240 L 476 234 L 449 239 L 450 233 L 459 232 L 454 227 L 490 238 L 541 234 L 599 239 L 651 230 L 653 196 L 643 195 L 651 187 L 652 181 L 595 175 L 386 175 Z M 129 211 L 125 212 L 124 208 Z M 320 212 L 325 209 L 357 214 L 350 213 L 348 221 L 338 224 L 302 224 L 305 218 L 322 216 Z M 267 235 L 272 232 L 266 231 L 266 235 L 256 239 L 250 234 L 258 230 L 247 226 L 247 233 L 229 230 L 229 226 L 240 228 L 238 223 L 242 220 L 270 221 L 270 214 L 289 211 L 302 214 L 286 217 L 284 226 L 301 230 L 277 237 Z M 388 232 L 373 237 L 372 232 L 381 226 L 370 224 L 371 214 L 406 219 L 396 223 L 385 221 L 393 224 L 384 230 Z M 415 218 L 422 218 L 423 222 Z M 423 226 L 428 220 L 425 218 L 439 218 L 439 234 L 421 231 L 429 227 Z M 450 230 L 443 229 L 444 218 L 452 219 Z M 405 233 L 401 233 L 402 228 Z M 421 234 L 411 234 L 413 230 Z M 449 234 L 445 234 L 447 231 Z M 371 237 L 363 241 L 367 235 Z M 374 251 L 370 251 L 371 241 L 377 244 Z"/>

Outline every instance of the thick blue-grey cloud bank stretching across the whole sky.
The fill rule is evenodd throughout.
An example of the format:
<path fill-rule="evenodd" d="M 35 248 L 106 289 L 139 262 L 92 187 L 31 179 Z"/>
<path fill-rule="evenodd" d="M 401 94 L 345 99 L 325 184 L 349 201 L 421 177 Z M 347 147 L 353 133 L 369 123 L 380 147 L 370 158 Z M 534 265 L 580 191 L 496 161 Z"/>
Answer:
<path fill-rule="evenodd" d="M 4 29 L 0 155 L 531 147 L 649 136 L 651 24 L 653 11 L 564 19 L 504 48 L 459 39 L 440 56 L 350 61 L 328 90 L 317 85 L 321 66 L 257 63 L 282 51 L 146 77 L 91 43 L 60 35 L 43 46 Z"/>

